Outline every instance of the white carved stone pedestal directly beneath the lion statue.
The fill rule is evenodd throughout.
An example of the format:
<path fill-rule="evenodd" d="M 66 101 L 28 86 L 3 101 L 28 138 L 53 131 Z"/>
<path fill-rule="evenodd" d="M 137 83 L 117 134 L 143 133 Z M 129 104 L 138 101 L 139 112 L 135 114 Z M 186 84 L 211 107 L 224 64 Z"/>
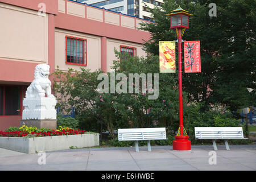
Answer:
<path fill-rule="evenodd" d="M 57 112 L 55 97 L 28 97 L 24 98 L 22 119 L 56 119 Z"/>

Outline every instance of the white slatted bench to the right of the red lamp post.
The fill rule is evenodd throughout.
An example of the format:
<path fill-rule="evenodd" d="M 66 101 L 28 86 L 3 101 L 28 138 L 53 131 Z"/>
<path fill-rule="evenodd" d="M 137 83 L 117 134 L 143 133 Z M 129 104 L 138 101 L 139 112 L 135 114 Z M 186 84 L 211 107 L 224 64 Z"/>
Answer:
<path fill-rule="evenodd" d="M 213 148 L 217 150 L 216 139 L 224 139 L 226 150 L 229 149 L 229 139 L 243 138 L 242 127 L 195 127 L 196 139 L 212 139 Z"/>

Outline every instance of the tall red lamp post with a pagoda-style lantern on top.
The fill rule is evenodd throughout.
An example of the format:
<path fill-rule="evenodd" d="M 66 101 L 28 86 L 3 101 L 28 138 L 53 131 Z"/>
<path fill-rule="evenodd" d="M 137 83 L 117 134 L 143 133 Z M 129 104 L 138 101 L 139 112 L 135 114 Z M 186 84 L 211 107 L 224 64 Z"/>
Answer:
<path fill-rule="evenodd" d="M 192 14 L 188 14 L 188 11 L 181 9 L 179 6 L 176 10 L 171 11 L 170 16 L 170 28 L 174 28 L 177 33 L 178 39 L 178 67 L 179 67 L 179 118 L 180 126 L 175 136 L 175 140 L 172 142 L 173 150 L 187 151 L 191 150 L 191 141 L 188 140 L 188 135 L 183 126 L 183 103 L 182 103 L 182 69 L 181 69 L 181 36 L 184 34 L 185 28 L 188 28 L 188 19 Z M 181 29 L 182 33 L 181 33 Z"/>

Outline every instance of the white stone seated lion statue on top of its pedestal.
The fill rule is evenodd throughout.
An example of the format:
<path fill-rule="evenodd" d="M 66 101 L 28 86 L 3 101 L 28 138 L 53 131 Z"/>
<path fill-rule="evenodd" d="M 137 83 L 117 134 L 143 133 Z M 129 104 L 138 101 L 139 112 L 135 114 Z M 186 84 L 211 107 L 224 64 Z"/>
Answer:
<path fill-rule="evenodd" d="M 35 80 L 32 81 L 26 91 L 26 98 L 54 97 L 51 94 L 51 81 L 49 81 L 49 65 L 38 64 L 35 68 Z"/>

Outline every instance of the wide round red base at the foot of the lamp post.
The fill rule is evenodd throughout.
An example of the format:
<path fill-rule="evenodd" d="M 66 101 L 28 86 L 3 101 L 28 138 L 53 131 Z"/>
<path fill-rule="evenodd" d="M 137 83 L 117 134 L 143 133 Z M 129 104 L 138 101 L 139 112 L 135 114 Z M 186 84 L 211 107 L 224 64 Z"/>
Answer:
<path fill-rule="evenodd" d="M 172 150 L 186 151 L 191 150 L 191 141 L 188 136 L 174 136 L 172 141 Z"/>

